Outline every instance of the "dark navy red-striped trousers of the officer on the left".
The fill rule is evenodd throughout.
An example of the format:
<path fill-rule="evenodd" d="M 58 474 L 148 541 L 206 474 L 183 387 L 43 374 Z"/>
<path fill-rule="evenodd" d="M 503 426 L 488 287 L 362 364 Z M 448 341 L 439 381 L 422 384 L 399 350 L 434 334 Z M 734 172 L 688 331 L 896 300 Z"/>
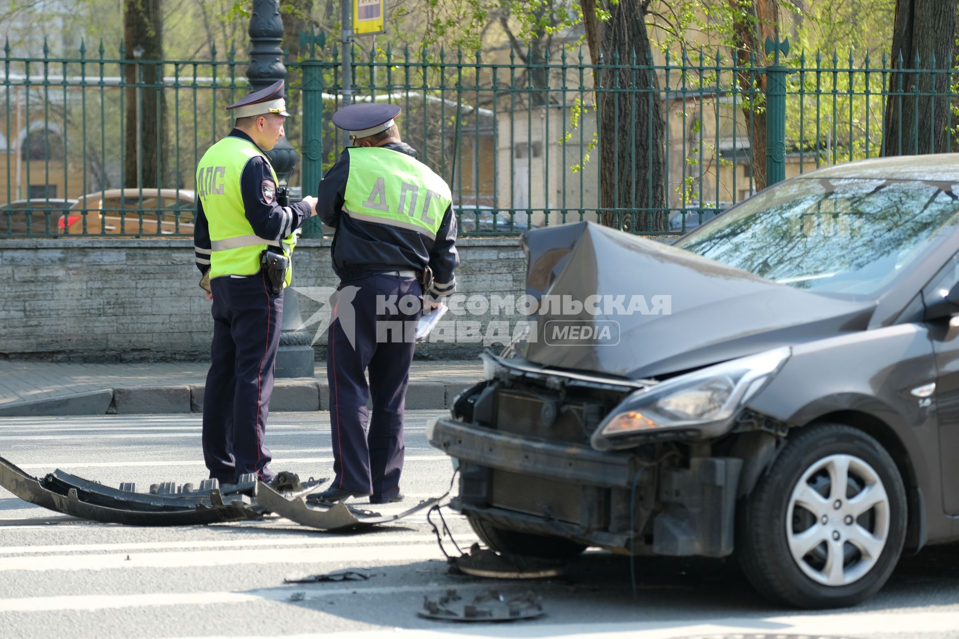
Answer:
<path fill-rule="evenodd" d="M 245 473 L 269 481 L 264 436 L 283 296 L 269 292 L 263 272 L 218 277 L 210 286 L 214 324 L 203 393 L 203 459 L 210 477 L 222 483 L 235 483 Z"/>

